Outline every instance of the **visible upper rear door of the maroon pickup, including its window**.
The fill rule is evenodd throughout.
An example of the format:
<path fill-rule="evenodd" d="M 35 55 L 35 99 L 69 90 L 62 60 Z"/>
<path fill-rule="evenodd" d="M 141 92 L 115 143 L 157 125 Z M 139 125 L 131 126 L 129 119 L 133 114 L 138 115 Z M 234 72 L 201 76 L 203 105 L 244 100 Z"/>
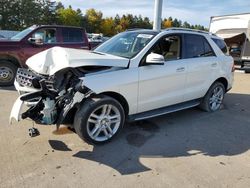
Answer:
<path fill-rule="evenodd" d="M 88 41 L 84 33 L 80 28 L 61 28 L 60 46 L 88 50 Z"/>

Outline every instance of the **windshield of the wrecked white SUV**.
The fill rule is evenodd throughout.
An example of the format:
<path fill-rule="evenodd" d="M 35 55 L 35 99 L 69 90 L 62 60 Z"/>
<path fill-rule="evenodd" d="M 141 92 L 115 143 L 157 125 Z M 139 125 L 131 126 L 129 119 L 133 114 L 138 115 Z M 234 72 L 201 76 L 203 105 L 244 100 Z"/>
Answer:
<path fill-rule="evenodd" d="M 120 33 L 94 51 L 116 55 L 125 58 L 136 56 L 153 38 L 155 34 L 140 33 L 140 32 L 124 32 Z"/>

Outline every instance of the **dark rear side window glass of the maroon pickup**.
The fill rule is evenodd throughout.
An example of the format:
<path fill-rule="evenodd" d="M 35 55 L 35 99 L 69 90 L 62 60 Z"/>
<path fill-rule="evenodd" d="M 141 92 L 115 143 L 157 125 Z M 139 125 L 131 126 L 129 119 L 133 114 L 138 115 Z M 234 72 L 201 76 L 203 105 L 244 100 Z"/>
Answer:
<path fill-rule="evenodd" d="M 80 29 L 62 29 L 63 42 L 84 42 L 82 31 Z"/>

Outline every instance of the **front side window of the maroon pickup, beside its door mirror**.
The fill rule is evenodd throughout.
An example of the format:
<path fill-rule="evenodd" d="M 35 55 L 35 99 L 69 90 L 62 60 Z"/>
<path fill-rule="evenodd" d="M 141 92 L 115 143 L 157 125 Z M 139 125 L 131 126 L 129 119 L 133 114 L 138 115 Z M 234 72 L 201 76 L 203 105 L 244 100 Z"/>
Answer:
<path fill-rule="evenodd" d="M 45 44 L 56 43 L 56 29 L 39 29 L 32 34 L 32 38 Z"/>

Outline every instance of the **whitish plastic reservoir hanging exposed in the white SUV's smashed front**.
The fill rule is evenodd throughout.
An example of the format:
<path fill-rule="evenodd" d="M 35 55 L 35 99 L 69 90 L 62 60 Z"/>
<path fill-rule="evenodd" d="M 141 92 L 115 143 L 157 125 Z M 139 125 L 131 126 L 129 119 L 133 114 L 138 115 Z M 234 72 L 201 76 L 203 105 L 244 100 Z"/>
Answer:
<path fill-rule="evenodd" d="M 45 100 L 42 100 L 44 104 L 44 108 L 41 111 L 41 114 L 43 114 L 42 117 L 42 123 L 51 125 L 55 122 L 57 111 L 55 108 L 55 101 L 51 100 L 50 98 L 46 98 Z"/>

